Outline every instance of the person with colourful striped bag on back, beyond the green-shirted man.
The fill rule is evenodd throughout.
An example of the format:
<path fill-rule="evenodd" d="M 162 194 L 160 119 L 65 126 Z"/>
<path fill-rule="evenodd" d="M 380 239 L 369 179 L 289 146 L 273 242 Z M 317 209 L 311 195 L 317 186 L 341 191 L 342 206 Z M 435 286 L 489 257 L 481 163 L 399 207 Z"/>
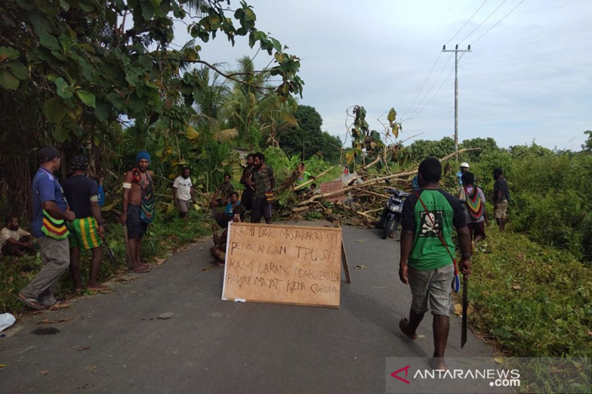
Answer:
<path fill-rule="evenodd" d="M 489 218 L 485 210 L 485 194 L 475 186 L 475 175 L 466 171 L 462 174 L 462 187 L 456 191 L 456 198 L 464 202 L 466 227 L 469 229 L 473 245 L 485 239 L 485 225 Z"/>

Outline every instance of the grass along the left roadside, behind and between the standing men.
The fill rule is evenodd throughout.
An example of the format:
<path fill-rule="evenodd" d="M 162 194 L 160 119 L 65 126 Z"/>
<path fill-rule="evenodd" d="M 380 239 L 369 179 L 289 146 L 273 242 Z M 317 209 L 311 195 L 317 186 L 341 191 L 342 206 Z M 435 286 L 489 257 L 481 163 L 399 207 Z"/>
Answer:
<path fill-rule="evenodd" d="M 143 242 L 143 261 L 153 262 L 156 258 L 165 258 L 173 250 L 194 242 L 198 237 L 209 235 L 209 213 L 189 211 L 189 222 L 179 219 L 176 210 L 159 213 L 155 222 L 150 224 Z M 123 227 L 115 222 L 115 218 L 108 222 L 107 245 L 115 255 L 117 264 L 110 261 L 104 253 L 99 281 L 104 282 L 114 278 L 118 271 L 127 268 L 126 245 L 123 239 Z M 110 223 L 110 224 L 109 224 Z M 81 253 L 81 270 L 83 283 L 88 282 L 88 271 L 91 253 L 83 250 Z M 17 300 L 18 292 L 26 286 L 41 268 L 41 256 L 27 255 L 14 259 L 2 256 L 0 258 L 0 312 L 18 313 L 25 306 Z M 56 297 L 62 298 L 72 294 L 74 284 L 69 272 L 65 272 L 56 286 Z"/>

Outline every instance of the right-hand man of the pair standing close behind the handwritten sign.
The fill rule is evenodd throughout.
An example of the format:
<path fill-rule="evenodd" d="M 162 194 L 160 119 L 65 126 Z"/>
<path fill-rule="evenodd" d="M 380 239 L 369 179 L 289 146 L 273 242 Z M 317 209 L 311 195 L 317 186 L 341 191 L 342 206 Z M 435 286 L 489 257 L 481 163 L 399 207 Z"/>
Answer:
<path fill-rule="evenodd" d="M 253 187 L 253 203 L 251 223 L 259 223 L 261 217 L 265 223 L 271 223 L 272 190 L 275 188 L 274 170 L 265 164 L 265 155 L 258 152 L 255 155 L 255 170 L 249 183 Z"/>

